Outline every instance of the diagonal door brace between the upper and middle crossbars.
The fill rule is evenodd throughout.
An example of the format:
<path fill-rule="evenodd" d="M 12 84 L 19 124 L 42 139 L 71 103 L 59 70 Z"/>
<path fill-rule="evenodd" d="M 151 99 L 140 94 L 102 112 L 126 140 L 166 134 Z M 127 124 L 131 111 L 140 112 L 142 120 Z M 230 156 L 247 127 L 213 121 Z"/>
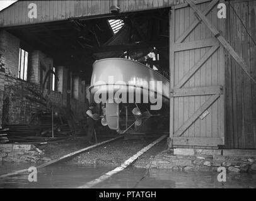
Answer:
<path fill-rule="evenodd" d="M 216 50 L 218 50 L 219 45 L 212 46 L 212 48 L 202 56 L 202 58 L 199 60 L 199 62 L 195 63 L 194 67 L 192 67 L 189 72 L 185 73 L 185 75 L 182 77 L 181 80 L 178 81 L 177 85 L 175 85 L 175 88 L 182 87 L 189 79 L 194 75 L 197 70 L 204 65 L 204 63 L 208 60 L 211 55 L 213 55 Z"/>

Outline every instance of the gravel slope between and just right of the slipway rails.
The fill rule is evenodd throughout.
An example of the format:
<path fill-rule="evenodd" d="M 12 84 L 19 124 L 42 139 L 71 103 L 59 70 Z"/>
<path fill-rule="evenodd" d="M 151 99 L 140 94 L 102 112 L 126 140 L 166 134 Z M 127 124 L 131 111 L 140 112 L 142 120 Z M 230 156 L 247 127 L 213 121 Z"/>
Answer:
<path fill-rule="evenodd" d="M 139 150 L 153 142 L 156 138 L 146 139 L 125 139 L 118 140 L 105 146 L 100 146 L 91 151 L 83 153 L 68 163 L 88 164 L 88 165 L 107 165 L 118 166 L 125 160 L 136 154 Z M 156 144 L 153 148 L 149 149 L 142 155 L 135 163 L 134 166 L 138 168 L 146 168 L 151 159 L 166 148 L 166 141 Z"/>

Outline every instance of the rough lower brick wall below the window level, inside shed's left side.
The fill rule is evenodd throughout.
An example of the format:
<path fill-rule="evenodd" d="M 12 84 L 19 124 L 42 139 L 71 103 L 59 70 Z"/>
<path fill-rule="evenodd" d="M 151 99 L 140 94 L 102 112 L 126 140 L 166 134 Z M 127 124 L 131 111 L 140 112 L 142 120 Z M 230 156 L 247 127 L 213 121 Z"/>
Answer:
<path fill-rule="evenodd" d="M 38 99 L 37 95 L 34 95 L 28 89 L 38 94 L 40 93 L 39 84 L 26 82 L 9 75 L 5 76 L 3 107 L 1 107 L 3 108 L 3 124 L 27 124 L 30 122 L 32 115 L 35 114 L 38 109 L 42 109 L 42 105 L 27 98 Z M 65 100 L 66 97 L 61 92 L 51 90 L 50 94 L 48 94 L 48 90 L 45 90 L 44 95 L 47 95 L 55 106 L 66 106 L 63 104 L 63 100 Z M 85 111 L 86 107 L 85 102 L 71 99 L 71 110 L 78 120 L 84 118 L 83 111 Z"/>

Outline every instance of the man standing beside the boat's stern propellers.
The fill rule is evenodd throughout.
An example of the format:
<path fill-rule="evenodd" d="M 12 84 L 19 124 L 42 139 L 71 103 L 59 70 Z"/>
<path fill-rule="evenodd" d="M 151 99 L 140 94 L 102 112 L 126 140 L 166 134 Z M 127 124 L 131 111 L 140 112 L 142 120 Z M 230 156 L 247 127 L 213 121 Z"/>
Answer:
<path fill-rule="evenodd" d="M 99 119 L 99 115 L 96 113 L 95 103 L 90 104 L 88 110 L 86 111 L 86 116 L 87 116 L 87 125 L 88 125 L 86 139 L 87 141 L 89 141 L 90 144 L 92 144 L 93 134 L 95 132 L 96 120 Z"/>

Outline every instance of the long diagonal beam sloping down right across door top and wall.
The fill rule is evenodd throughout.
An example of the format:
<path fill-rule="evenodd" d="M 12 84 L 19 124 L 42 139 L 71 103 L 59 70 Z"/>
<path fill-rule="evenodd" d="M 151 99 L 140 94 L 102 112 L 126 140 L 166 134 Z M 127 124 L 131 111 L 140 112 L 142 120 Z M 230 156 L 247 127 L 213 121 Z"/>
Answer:
<path fill-rule="evenodd" d="M 245 60 L 243 60 L 243 58 L 240 57 L 240 55 L 238 55 L 237 52 L 235 52 L 235 50 L 232 48 L 230 43 L 228 43 L 228 41 L 226 41 L 223 38 L 223 36 L 221 36 L 219 31 L 211 24 L 209 19 L 207 19 L 206 16 L 204 14 L 202 14 L 202 12 L 199 9 L 197 9 L 197 6 L 195 6 L 195 4 L 193 3 L 192 0 L 185 0 L 185 1 L 187 1 L 187 3 L 190 5 L 190 7 L 195 11 L 197 16 L 199 16 L 199 18 L 202 19 L 202 21 L 206 24 L 207 28 L 209 28 L 209 30 L 212 32 L 212 34 L 219 40 L 219 42 L 224 46 L 224 48 L 228 51 L 228 53 L 230 53 L 230 55 L 236 60 L 236 62 L 240 65 L 240 67 L 248 75 L 248 77 L 250 77 L 250 79 L 256 84 L 256 80 L 252 77 L 250 72 L 248 72 L 248 70 L 247 70 L 248 67 L 247 67 L 247 63 L 245 62 Z"/>

